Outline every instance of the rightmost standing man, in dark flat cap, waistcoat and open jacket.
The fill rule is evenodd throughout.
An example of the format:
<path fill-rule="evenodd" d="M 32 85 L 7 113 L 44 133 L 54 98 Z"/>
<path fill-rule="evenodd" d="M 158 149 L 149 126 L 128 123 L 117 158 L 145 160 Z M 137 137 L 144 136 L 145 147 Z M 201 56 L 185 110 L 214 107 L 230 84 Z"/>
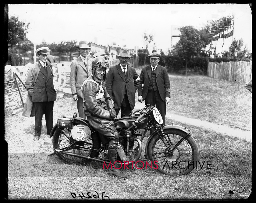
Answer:
<path fill-rule="evenodd" d="M 138 101 L 142 103 L 145 100 L 145 105 L 156 105 L 165 125 L 165 103 L 169 104 L 171 97 L 170 80 L 167 69 L 158 65 L 161 54 L 153 52 L 148 57 L 150 58 L 150 65 L 143 67 L 140 72 Z M 144 86 L 142 87 L 142 85 Z"/>

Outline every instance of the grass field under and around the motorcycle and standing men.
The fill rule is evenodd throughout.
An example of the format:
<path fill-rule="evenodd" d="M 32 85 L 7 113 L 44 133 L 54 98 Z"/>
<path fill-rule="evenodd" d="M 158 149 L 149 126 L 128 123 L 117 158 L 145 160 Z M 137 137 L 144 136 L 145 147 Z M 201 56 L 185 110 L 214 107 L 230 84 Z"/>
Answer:
<path fill-rule="evenodd" d="M 170 75 L 170 81 L 172 103 L 168 106 L 169 112 L 243 130 L 251 129 L 251 93 L 243 86 L 206 76 Z M 62 115 L 73 115 L 76 111 L 76 103 L 71 96 L 58 93 L 54 104 L 54 122 Z M 185 126 L 182 122 L 175 124 Z M 198 144 L 200 163 L 208 161 L 212 164 L 211 169 L 204 164 L 202 168 L 197 167 L 181 176 L 163 175 L 154 169 L 123 169 L 130 178 L 119 179 L 107 176 L 102 165 L 94 169 L 90 164 L 68 165 L 57 156 L 48 157 L 53 152 L 52 138 L 46 135 L 44 118 L 41 139 L 34 141 L 34 117 L 11 116 L 6 112 L 8 198 L 247 199 L 252 188 L 251 142 L 187 124 L 186 127 L 192 130 Z M 142 144 L 140 160 L 144 159 L 145 139 Z"/>

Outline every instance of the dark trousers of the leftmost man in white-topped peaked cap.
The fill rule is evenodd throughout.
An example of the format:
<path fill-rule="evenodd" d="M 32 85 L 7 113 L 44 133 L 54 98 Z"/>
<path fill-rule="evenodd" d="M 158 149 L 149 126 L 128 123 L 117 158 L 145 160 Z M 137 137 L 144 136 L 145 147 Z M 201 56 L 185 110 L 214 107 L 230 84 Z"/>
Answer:
<path fill-rule="evenodd" d="M 35 136 L 41 135 L 42 130 L 42 118 L 45 114 L 46 130 L 47 134 L 51 133 L 53 128 L 53 104 L 50 102 L 34 102 L 35 107 Z"/>

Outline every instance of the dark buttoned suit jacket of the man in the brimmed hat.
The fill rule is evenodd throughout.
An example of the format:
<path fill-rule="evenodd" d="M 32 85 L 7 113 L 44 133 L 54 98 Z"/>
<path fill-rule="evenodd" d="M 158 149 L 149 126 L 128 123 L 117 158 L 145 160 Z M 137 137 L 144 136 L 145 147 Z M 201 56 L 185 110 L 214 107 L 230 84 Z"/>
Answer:
<path fill-rule="evenodd" d="M 128 65 L 127 65 L 128 66 Z M 120 63 L 116 66 L 112 66 L 108 70 L 106 88 L 109 96 L 114 100 L 114 108 L 121 107 L 121 103 L 124 98 L 125 88 L 127 90 L 127 96 L 131 109 L 135 106 L 135 92 L 139 85 L 138 73 L 132 66 L 128 66 L 128 76 L 125 80 L 123 69 Z"/>

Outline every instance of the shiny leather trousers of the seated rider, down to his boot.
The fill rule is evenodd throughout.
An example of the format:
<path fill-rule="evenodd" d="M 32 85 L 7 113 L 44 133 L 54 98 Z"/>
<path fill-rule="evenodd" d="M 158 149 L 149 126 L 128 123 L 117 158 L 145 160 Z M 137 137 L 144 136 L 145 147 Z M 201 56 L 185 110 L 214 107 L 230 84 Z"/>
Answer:
<path fill-rule="evenodd" d="M 108 156 L 113 164 L 117 158 L 117 144 L 119 140 L 119 133 L 116 130 L 114 122 L 95 116 L 87 116 L 87 120 L 95 130 L 108 138 Z"/>

